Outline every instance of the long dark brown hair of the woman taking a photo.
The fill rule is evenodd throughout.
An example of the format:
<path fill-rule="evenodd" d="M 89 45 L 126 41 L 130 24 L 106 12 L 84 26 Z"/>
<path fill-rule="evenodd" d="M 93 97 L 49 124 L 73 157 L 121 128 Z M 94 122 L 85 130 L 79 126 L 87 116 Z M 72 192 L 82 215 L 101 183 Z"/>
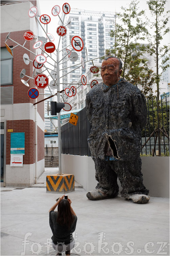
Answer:
<path fill-rule="evenodd" d="M 57 223 L 66 225 L 68 228 L 73 223 L 73 215 L 71 213 L 70 203 L 67 199 L 62 199 L 58 204 Z"/>

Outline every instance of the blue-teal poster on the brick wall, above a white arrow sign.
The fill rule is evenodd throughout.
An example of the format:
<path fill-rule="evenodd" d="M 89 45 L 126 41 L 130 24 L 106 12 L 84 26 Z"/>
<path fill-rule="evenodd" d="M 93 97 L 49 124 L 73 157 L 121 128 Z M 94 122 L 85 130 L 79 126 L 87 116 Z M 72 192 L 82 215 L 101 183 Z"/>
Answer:
<path fill-rule="evenodd" d="M 25 132 L 10 133 L 10 154 L 25 155 Z"/>

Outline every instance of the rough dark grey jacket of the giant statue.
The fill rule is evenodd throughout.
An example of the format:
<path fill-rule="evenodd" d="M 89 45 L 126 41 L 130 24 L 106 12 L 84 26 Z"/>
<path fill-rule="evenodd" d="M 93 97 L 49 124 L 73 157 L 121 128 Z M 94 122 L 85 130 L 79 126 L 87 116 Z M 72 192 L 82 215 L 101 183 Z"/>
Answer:
<path fill-rule="evenodd" d="M 117 150 L 117 159 L 135 160 L 140 155 L 141 130 L 146 125 L 146 99 L 131 83 L 107 87 L 95 85 L 86 96 L 87 117 L 91 125 L 88 145 L 92 157 L 105 159 L 109 137 Z"/>

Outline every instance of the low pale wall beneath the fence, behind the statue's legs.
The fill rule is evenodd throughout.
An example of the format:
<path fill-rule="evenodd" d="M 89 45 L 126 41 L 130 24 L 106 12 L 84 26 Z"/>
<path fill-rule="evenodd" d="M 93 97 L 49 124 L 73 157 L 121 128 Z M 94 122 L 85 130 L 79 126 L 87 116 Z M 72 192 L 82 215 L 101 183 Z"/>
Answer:
<path fill-rule="evenodd" d="M 142 157 L 144 185 L 150 196 L 169 197 L 169 157 Z M 86 191 L 95 188 L 95 167 L 91 157 L 62 154 L 62 172 L 74 174 Z M 120 182 L 118 181 L 119 186 Z M 121 189 L 120 189 L 121 191 Z"/>

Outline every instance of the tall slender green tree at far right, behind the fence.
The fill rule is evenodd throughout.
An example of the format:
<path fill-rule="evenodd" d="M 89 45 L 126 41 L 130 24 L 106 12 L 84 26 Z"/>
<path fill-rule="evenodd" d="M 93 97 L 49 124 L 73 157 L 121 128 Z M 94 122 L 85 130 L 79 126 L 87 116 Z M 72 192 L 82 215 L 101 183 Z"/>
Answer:
<path fill-rule="evenodd" d="M 151 12 L 151 16 L 154 17 L 154 22 L 151 22 L 150 18 L 147 18 L 147 24 L 149 25 L 150 29 L 152 30 L 151 33 L 147 33 L 147 39 L 149 42 L 148 45 L 148 52 L 152 55 L 156 62 L 156 75 L 155 75 L 155 82 L 157 86 L 157 99 L 159 100 L 160 97 L 160 79 L 162 76 L 163 71 L 169 67 L 169 56 L 167 55 L 166 58 L 159 64 L 160 59 L 163 56 L 166 56 L 169 51 L 169 45 L 162 45 L 163 37 L 169 33 L 168 21 L 169 21 L 169 11 L 165 12 L 165 3 L 167 1 L 148 1 L 148 7 Z M 165 14 L 165 15 L 164 15 Z M 162 68 L 162 71 L 159 70 Z M 159 108 L 159 104 L 158 104 Z"/>

